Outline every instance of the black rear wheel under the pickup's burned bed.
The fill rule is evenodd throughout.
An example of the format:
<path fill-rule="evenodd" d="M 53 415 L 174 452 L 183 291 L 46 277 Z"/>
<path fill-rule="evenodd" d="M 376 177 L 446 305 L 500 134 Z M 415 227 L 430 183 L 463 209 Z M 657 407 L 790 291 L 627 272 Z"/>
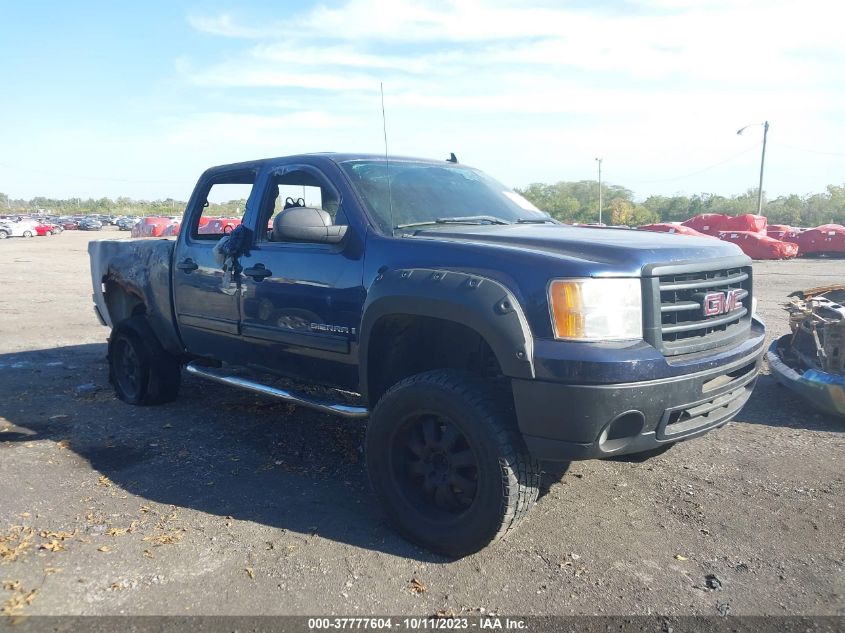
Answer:
<path fill-rule="evenodd" d="M 179 360 L 161 347 L 143 316 L 118 324 L 109 338 L 109 382 L 117 397 L 136 405 L 172 402 L 179 394 Z"/>

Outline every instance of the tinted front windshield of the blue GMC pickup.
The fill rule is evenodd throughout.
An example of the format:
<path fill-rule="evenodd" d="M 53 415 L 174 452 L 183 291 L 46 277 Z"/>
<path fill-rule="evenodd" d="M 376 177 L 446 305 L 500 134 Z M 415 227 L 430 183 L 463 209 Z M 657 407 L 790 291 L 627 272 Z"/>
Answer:
<path fill-rule="evenodd" d="M 385 161 L 340 165 L 386 233 L 429 223 L 509 224 L 549 217 L 502 183 L 461 165 L 391 160 L 389 194 Z"/>

